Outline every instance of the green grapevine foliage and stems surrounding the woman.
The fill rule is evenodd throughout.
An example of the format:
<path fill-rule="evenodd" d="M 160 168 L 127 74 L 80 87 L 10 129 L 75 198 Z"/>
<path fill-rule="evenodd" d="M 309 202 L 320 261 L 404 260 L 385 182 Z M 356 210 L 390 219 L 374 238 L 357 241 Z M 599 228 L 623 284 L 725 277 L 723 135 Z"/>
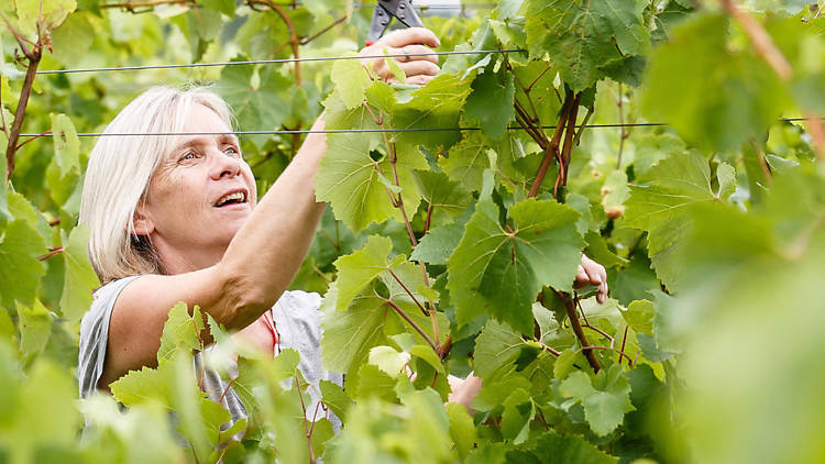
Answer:
<path fill-rule="evenodd" d="M 361 7 L 0 5 L 0 461 L 817 462 L 818 2 L 425 8 L 437 52 L 455 52 L 426 86 L 389 57 L 389 81 L 324 58 L 364 43 Z M 213 82 L 241 130 L 282 131 L 241 132 L 260 192 L 323 119 L 329 207 L 292 288 L 323 297 L 321 355 L 342 386 L 182 303 L 156 367 L 76 398 L 100 285 L 76 227 L 94 144 L 78 132 L 191 81 Z M 573 286 L 582 254 L 607 269 L 604 303 Z M 248 419 L 222 427 L 195 352 Z M 468 410 L 449 400 L 470 373 Z"/>

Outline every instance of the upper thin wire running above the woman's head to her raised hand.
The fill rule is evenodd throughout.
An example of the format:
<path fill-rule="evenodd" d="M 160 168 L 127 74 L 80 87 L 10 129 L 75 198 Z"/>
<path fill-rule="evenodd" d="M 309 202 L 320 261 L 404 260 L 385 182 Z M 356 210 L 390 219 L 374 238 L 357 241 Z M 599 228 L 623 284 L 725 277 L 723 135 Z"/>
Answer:
<path fill-rule="evenodd" d="M 444 55 L 484 55 L 490 53 L 519 53 L 527 52 L 520 48 L 512 49 L 470 49 L 463 52 L 428 52 L 428 53 L 391 53 L 386 55 L 350 55 L 350 56 L 317 56 L 309 58 L 278 58 L 278 59 L 251 59 L 245 62 L 219 62 L 219 63 L 189 63 L 183 65 L 145 65 L 145 66 L 120 66 L 105 68 L 78 68 L 78 69 L 51 69 L 38 70 L 36 74 L 70 74 L 70 73 L 101 73 L 113 70 L 142 70 L 142 69 L 177 69 L 177 68 L 198 68 L 209 66 L 235 66 L 235 65 L 272 65 L 286 63 L 304 62 L 334 62 L 338 59 L 360 59 L 360 58 L 400 58 L 410 56 L 444 56 Z"/>

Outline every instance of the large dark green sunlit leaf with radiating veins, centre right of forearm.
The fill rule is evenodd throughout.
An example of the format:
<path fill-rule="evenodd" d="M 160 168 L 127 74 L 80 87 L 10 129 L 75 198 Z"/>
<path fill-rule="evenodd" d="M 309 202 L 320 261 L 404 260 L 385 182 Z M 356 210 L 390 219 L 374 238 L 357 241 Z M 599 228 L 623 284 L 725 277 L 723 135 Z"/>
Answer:
<path fill-rule="evenodd" d="M 480 201 L 448 259 L 447 288 L 460 324 L 492 314 L 521 333 L 532 332 L 531 303 L 542 286 L 572 289 L 584 245 L 579 213 L 550 200 L 513 206 L 513 231 L 499 223 L 492 200 Z"/>

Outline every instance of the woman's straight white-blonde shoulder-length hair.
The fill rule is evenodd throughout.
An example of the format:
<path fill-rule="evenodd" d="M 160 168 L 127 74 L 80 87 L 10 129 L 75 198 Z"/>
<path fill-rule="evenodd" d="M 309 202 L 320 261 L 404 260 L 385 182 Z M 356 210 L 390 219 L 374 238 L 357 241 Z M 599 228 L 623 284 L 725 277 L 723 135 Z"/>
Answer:
<path fill-rule="evenodd" d="M 138 274 L 164 274 L 154 246 L 134 229 L 138 205 L 152 175 L 175 146 L 193 104 L 215 111 L 232 128 L 229 106 L 205 87 L 153 87 L 132 100 L 98 139 L 89 156 L 80 203 L 80 223 L 90 229 L 89 259 L 103 284 Z"/>

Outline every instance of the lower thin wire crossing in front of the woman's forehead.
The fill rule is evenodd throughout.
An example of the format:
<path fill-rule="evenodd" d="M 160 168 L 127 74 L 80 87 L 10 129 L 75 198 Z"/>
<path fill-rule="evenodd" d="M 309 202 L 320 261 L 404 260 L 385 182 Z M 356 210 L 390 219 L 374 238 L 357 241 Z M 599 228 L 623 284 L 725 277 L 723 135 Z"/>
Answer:
<path fill-rule="evenodd" d="M 781 118 L 781 122 L 807 121 L 811 118 Z M 825 118 L 820 118 L 825 120 Z M 661 128 L 670 125 L 667 122 L 635 122 L 626 124 L 576 124 L 575 129 L 618 129 L 618 128 Z M 556 129 L 556 125 L 542 125 L 542 129 Z M 351 134 L 351 133 L 375 133 L 375 132 L 465 132 L 481 131 L 482 128 L 389 128 L 389 129 L 324 129 L 324 130 L 277 130 L 277 131 L 230 131 L 230 132 L 152 132 L 152 133 L 107 133 L 107 132 L 79 132 L 78 137 L 103 137 L 103 136 L 176 136 L 176 135 L 293 135 L 293 134 Z M 522 131 L 521 126 L 507 128 L 510 131 Z M 51 137 L 52 133 L 20 134 L 21 137 Z"/>

